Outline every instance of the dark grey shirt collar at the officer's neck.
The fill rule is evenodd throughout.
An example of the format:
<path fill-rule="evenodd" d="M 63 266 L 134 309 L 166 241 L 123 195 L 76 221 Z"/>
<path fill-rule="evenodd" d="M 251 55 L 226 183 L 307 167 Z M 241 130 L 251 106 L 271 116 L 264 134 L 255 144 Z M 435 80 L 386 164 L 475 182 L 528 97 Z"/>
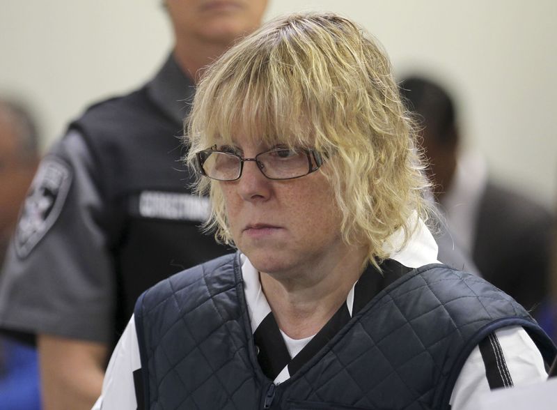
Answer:
<path fill-rule="evenodd" d="M 159 73 L 148 82 L 147 93 L 166 115 L 182 123 L 194 100 L 195 84 L 170 54 Z"/>

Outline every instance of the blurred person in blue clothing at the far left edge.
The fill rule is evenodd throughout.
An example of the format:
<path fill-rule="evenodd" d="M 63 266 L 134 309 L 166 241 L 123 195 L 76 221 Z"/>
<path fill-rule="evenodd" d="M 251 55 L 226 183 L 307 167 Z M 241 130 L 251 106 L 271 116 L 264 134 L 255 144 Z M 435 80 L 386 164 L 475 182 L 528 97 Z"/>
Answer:
<path fill-rule="evenodd" d="M 38 132 L 29 110 L 0 98 L 0 266 L 38 162 Z M 40 409 L 36 350 L 6 335 L 0 335 L 0 409 Z"/>

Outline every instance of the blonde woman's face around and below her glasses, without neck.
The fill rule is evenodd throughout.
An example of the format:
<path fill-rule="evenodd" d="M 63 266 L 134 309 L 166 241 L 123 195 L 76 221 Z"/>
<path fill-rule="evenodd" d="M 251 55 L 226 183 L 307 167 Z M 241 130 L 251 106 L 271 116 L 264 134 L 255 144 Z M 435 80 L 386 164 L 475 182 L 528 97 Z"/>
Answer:
<path fill-rule="evenodd" d="M 273 148 L 242 138 L 235 143 L 244 158 Z M 219 182 L 234 242 L 259 271 L 306 271 L 343 255 L 340 212 L 322 174 L 327 166 L 298 179 L 273 181 L 255 162 L 244 162 L 240 179 Z"/>

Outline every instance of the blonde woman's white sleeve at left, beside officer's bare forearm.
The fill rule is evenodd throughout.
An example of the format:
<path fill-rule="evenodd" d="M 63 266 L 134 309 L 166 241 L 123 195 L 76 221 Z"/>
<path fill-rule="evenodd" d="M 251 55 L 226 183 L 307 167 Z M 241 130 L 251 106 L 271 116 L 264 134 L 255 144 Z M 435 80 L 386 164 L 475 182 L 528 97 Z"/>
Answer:
<path fill-rule="evenodd" d="M 104 374 L 102 393 L 92 410 L 136 410 L 134 372 L 139 369 L 141 359 L 132 316 L 112 353 Z"/>

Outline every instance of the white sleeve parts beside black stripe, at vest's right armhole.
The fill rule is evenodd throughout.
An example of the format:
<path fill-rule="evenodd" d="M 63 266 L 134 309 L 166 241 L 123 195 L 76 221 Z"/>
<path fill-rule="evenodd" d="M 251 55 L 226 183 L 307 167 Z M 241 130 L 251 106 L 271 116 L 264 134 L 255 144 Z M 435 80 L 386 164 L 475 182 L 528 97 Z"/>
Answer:
<path fill-rule="evenodd" d="M 490 335 L 493 343 L 499 343 L 495 349 L 499 352 L 496 370 L 511 386 L 526 386 L 547 379 L 542 354 L 524 328 L 502 328 L 493 335 Z M 453 388 L 451 409 L 476 410 L 476 400 L 490 390 L 486 364 L 480 347 L 476 346 L 466 359 Z"/>

